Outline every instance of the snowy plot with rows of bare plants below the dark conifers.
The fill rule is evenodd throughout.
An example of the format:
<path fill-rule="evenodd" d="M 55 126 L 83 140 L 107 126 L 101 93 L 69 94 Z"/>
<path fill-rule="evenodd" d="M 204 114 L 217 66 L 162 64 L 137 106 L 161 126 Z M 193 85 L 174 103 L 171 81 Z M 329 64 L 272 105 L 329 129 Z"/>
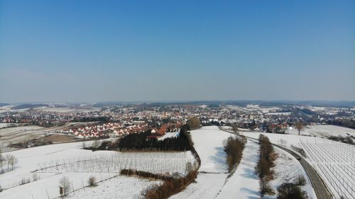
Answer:
<path fill-rule="evenodd" d="M 195 159 L 189 152 L 100 152 L 89 157 L 72 157 L 38 163 L 37 172 L 93 172 L 112 173 L 121 169 L 149 171 L 153 174 L 186 174 L 187 162 Z"/>

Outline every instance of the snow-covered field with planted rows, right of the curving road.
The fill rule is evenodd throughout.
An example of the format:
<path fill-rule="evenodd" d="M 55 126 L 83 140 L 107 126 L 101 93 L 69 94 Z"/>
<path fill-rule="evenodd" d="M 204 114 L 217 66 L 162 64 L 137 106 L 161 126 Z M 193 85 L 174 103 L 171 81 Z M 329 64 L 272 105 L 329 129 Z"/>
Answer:
<path fill-rule="evenodd" d="M 326 132 L 324 132 L 326 133 Z M 261 132 L 242 132 L 242 134 L 258 138 L 266 135 L 274 144 L 302 148 L 307 154 L 306 160 L 315 167 L 333 195 L 339 198 L 344 195 L 354 198 L 355 195 L 355 146 L 322 139 L 320 137 L 282 135 Z"/>

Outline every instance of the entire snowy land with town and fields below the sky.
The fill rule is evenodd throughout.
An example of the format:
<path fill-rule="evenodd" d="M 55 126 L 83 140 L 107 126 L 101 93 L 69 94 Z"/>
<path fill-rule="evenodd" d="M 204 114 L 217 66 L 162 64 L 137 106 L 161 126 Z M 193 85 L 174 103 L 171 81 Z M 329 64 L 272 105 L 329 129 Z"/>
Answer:
<path fill-rule="evenodd" d="M 128 198 L 231 198 L 234 186 L 245 196 L 252 187 L 261 197 L 351 198 L 354 178 L 343 172 L 354 171 L 354 117 L 351 104 L 317 101 L 1 104 L 0 179 L 9 179 L 0 195 L 18 198 L 25 185 L 43 181 L 49 193 L 33 197 L 58 197 L 59 181 L 59 196 L 68 198 L 88 197 L 88 187 L 109 198 L 118 192 L 107 187 L 117 183 L 127 183 L 119 195 Z M 128 191 L 129 182 L 141 193 Z"/>

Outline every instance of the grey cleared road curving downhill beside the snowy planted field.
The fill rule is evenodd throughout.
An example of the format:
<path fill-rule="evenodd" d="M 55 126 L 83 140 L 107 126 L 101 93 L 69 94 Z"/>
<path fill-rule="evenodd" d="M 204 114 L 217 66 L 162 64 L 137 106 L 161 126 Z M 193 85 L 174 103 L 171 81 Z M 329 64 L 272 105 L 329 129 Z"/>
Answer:
<path fill-rule="evenodd" d="M 229 132 L 227 130 L 224 130 L 224 131 Z M 233 132 L 230 132 L 230 133 L 234 134 Z M 249 140 L 257 140 L 258 141 L 258 139 L 255 139 L 253 137 L 246 136 L 246 138 Z M 313 166 L 310 165 L 303 157 L 301 157 L 297 153 L 293 152 L 292 150 L 282 147 L 278 144 L 273 144 L 273 146 L 278 147 L 279 149 L 283 149 L 285 152 L 288 152 L 293 157 L 295 157 L 295 159 L 300 161 L 300 164 L 302 165 L 303 169 L 305 169 L 308 178 L 310 178 L 310 181 L 312 183 L 312 187 L 315 190 L 315 194 L 317 195 L 318 199 L 332 199 L 333 198 L 332 194 L 328 191 L 327 186 L 322 181 L 322 178 L 320 178 L 320 176 L 317 174 L 317 171 L 315 171 L 315 168 L 313 168 Z"/>

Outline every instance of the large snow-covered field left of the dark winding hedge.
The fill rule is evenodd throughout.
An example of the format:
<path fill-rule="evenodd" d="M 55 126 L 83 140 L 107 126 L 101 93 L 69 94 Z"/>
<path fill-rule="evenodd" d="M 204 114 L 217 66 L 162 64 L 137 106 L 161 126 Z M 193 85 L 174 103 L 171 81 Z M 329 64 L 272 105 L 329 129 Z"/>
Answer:
<path fill-rule="evenodd" d="M 87 144 L 90 144 L 87 142 Z M 21 149 L 14 152 L 4 153 L 13 154 L 18 159 L 17 166 L 13 171 L 0 174 L 0 185 L 4 191 L 0 193 L 0 198 L 57 198 L 59 196 L 58 181 L 62 176 L 67 176 L 71 183 L 71 189 L 77 190 L 87 186 L 89 176 L 95 176 L 98 181 L 104 181 L 119 174 L 119 169 L 140 169 L 143 171 L 161 171 L 168 173 L 180 171 L 185 173 L 185 162 L 195 161 L 190 152 L 171 153 L 119 153 L 112 151 L 97 151 L 81 149 L 82 143 L 73 142 L 67 144 L 52 144 L 43 147 L 33 147 Z M 98 164 L 98 157 L 107 161 Z M 84 159 L 89 159 L 81 161 Z M 116 169 L 112 166 L 112 161 L 116 164 Z M 120 164 L 118 161 L 122 161 Z M 65 164 L 62 164 L 65 162 Z M 58 164 L 57 164 L 58 163 Z M 96 165 L 94 164 L 96 163 Z M 120 165 L 117 166 L 117 165 Z M 138 167 L 140 166 L 140 167 Z M 44 169 L 44 168 L 47 169 Z M 33 174 L 39 178 L 33 181 Z M 128 183 L 123 183 L 124 176 L 110 181 L 120 181 L 121 188 L 127 190 L 129 195 L 136 195 L 146 188 L 149 183 L 138 178 L 129 178 Z M 31 183 L 18 186 L 22 179 L 29 179 Z M 114 190 L 106 189 L 111 186 L 103 182 L 92 191 L 111 191 L 109 195 L 116 198 L 125 198 L 127 193 L 119 193 Z M 133 186 L 133 187 L 132 187 Z M 87 189 L 87 188 L 85 188 Z M 79 193 L 78 193 L 79 194 Z M 80 194 L 85 195 L 87 193 Z M 48 197 L 49 195 L 49 197 Z M 75 197 L 75 195 L 73 196 Z M 97 196 L 99 197 L 99 196 Z"/>

